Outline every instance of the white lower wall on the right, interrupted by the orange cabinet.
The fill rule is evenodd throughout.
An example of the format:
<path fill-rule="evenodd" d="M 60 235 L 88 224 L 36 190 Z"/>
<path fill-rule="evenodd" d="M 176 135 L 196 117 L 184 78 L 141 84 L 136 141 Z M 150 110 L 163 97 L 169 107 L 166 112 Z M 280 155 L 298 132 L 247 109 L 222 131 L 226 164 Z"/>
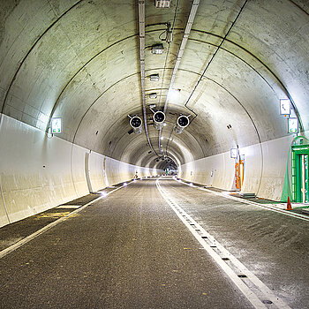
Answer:
<path fill-rule="evenodd" d="M 309 132 L 305 132 L 308 137 Z M 242 192 L 254 192 L 260 198 L 280 200 L 293 135 L 239 149 L 245 155 Z M 182 165 L 179 177 L 202 185 L 231 190 L 235 162 L 230 153 L 213 155 Z"/>

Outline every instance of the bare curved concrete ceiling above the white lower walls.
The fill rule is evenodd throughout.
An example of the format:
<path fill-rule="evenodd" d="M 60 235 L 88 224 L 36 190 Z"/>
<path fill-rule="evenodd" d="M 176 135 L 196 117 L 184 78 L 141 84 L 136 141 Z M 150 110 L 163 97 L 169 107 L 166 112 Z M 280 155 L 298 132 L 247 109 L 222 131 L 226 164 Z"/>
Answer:
<path fill-rule="evenodd" d="M 164 106 L 192 1 L 155 8 L 145 0 L 145 100 Z M 139 1 L 1 1 L 0 108 L 123 162 L 161 167 L 128 115 L 142 114 Z M 169 96 L 162 154 L 177 165 L 287 135 L 279 99 L 289 98 L 302 130 L 309 117 L 309 3 L 306 0 L 201 0 Z M 170 46 L 166 26 L 173 29 Z M 151 46 L 162 43 L 162 55 Z M 159 74 L 158 81 L 149 75 Z M 156 99 L 149 94 L 157 93 Z M 180 114 L 191 124 L 176 135 Z M 195 117 L 196 116 L 196 117 Z M 159 131 L 147 108 L 149 139 Z"/>

